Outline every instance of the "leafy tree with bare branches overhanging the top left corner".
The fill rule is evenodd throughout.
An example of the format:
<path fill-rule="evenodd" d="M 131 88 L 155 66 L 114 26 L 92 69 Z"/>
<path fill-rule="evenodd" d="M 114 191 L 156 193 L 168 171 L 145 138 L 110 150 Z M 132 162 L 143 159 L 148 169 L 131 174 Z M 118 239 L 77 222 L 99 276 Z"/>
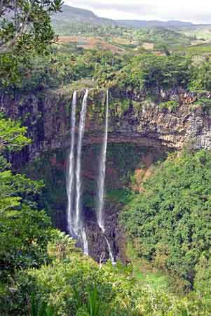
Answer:
<path fill-rule="evenodd" d="M 46 54 L 56 40 L 50 15 L 62 0 L 0 1 L 0 83 L 14 84 L 35 54 Z"/>

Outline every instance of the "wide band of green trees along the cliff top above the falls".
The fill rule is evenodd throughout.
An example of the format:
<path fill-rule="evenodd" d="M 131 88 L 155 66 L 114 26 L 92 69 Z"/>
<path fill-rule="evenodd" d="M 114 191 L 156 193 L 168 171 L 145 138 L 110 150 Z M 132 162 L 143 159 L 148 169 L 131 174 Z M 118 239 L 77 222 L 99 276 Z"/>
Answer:
<path fill-rule="evenodd" d="M 42 91 L 65 85 L 77 86 L 81 79 L 93 79 L 94 86 L 144 91 L 149 96 L 171 88 L 210 91 L 210 58 L 194 65 L 189 56 L 157 56 L 140 51 L 119 55 L 111 51 L 77 50 L 54 46 L 46 56 L 37 55 L 27 67 L 16 69 L 15 82 L 1 85 L 21 91 Z M 83 88 L 79 86 L 79 88 Z"/>

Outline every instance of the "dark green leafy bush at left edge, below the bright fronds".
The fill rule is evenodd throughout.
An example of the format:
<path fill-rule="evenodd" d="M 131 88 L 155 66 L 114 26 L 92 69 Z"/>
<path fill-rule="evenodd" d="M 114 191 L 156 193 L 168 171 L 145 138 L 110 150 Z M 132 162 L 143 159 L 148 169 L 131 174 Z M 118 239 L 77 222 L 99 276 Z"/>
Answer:
<path fill-rule="evenodd" d="M 50 220 L 44 212 L 22 205 L 20 211 L 1 216 L 1 277 L 17 269 L 37 267 L 48 261 Z"/>

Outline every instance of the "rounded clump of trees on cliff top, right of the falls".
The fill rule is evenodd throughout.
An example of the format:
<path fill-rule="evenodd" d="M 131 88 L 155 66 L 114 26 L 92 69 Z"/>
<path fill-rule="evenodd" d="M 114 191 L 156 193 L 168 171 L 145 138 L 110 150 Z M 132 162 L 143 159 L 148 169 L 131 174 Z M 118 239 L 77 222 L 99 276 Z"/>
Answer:
<path fill-rule="evenodd" d="M 143 54 L 133 58 L 116 75 L 121 88 L 145 90 L 187 87 L 191 78 L 191 62 L 179 55 L 156 56 Z"/>

